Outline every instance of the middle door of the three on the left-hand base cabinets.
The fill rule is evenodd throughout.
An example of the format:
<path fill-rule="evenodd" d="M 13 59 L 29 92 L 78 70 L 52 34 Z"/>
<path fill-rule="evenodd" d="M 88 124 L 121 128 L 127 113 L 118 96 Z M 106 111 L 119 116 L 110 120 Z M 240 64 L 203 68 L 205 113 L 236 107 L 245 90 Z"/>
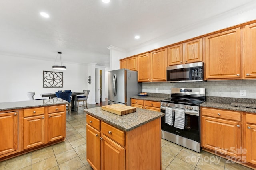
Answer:
<path fill-rule="evenodd" d="M 23 119 L 23 148 L 28 149 L 45 143 L 44 115 L 25 117 Z"/>

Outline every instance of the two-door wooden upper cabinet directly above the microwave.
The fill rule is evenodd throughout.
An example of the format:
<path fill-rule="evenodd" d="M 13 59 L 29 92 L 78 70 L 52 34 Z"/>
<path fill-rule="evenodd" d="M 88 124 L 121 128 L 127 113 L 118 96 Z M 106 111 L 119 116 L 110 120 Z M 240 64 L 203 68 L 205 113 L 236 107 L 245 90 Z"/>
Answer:
<path fill-rule="evenodd" d="M 168 66 L 203 61 L 203 39 L 170 46 L 168 49 Z"/>

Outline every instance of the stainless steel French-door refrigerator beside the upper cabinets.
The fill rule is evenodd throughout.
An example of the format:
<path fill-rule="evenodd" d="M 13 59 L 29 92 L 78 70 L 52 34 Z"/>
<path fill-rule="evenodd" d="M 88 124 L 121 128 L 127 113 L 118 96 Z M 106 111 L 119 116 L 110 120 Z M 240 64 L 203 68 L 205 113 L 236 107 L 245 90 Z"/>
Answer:
<path fill-rule="evenodd" d="M 137 82 L 137 71 L 126 69 L 108 72 L 108 104 L 131 106 L 131 96 L 138 96 L 142 83 Z"/>

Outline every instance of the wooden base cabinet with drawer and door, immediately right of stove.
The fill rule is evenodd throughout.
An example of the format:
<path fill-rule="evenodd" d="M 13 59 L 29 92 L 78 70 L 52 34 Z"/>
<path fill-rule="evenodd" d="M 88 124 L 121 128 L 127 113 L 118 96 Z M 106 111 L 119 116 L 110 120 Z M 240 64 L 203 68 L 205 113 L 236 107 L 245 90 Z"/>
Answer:
<path fill-rule="evenodd" d="M 234 149 L 241 147 L 241 113 L 201 108 L 202 147 L 238 158 Z"/>

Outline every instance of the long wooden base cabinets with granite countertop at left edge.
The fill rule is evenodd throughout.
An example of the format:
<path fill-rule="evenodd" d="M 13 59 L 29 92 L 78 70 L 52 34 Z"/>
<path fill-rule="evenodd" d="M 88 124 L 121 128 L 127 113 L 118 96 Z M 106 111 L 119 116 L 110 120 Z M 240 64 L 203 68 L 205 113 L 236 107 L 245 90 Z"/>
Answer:
<path fill-rule="evenodd" d="M 0 161 L 64 141 L 66 104 L 60 98 L 0 103 Z"/>

